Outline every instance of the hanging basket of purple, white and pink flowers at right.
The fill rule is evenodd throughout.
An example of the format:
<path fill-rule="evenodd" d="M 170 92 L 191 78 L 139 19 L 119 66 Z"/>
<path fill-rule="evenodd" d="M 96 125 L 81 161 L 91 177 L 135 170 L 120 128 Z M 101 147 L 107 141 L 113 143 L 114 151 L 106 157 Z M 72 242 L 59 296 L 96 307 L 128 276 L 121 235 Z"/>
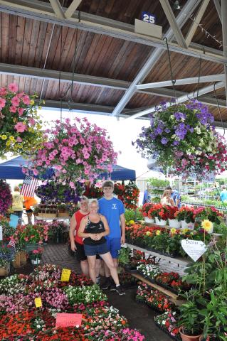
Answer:
<path fill-rule="evenodd" d="M 143 127 L 137 139 L 138 152 L 156 158 L 164 173 L 207 178 L 226 170 L 226 141 L 213 127 L 213 116 L 203 104 L 164 104 Z"/>

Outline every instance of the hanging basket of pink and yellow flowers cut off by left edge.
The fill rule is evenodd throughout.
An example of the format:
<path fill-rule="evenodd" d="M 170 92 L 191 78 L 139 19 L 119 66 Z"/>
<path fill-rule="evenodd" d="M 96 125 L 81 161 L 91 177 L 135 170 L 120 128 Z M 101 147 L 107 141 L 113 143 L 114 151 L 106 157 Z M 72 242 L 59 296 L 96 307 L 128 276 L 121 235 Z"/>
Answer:
<path fill-rule="evenodd" d="M 34 99 L 18 92 L 16 84 L 0 88 L 0 157 L 6 153 L 29 156 L 43 140 Z"/>

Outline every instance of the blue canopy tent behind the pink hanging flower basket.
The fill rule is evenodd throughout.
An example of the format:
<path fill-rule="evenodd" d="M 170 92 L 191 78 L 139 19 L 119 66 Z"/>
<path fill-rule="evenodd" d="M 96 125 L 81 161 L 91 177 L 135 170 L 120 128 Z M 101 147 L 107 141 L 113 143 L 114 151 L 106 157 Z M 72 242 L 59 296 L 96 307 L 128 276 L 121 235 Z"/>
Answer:
<path fill-rule="evenodd" d="M 0 179 L 24 179 L 25 174 L 22 173 L 21 166 L 26 166 L 27 161 L 18 156 L 10 161 L 0 163 Z M 111 178 L 111 180 L 135 180 L 136 173 L 132 169 L 121 166 L 113 166 L 112 173 L 102 173 L 100 178 Z M 47 172 L 46 178 L 51 178 L 53 171 Z"/>

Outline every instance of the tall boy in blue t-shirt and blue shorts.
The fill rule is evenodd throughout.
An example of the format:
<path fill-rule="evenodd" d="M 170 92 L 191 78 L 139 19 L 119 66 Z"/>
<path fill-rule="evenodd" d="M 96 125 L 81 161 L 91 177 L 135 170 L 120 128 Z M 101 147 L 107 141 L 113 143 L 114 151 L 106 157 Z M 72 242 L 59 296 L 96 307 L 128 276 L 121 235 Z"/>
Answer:
<path fill-rule="evenodd" d="M 118 251 L 121 248 L 121 244 L 125 244 L 125 207 L 121 200 L 113 196 L 114 184 L 112 181 L 106 180 L 102 184 L 102 190 L 104 197 L 98 200 L 99 212 L 106 217 L 110 227 L 110 234 L 105 238 L 117 268 Z M 102 289 L 110 288 L 112 291 L 115 290 L 115 286 L 112 286 L 110 281 L 110 271 L 107 266 L 105 266 L 105 277 Z"/>

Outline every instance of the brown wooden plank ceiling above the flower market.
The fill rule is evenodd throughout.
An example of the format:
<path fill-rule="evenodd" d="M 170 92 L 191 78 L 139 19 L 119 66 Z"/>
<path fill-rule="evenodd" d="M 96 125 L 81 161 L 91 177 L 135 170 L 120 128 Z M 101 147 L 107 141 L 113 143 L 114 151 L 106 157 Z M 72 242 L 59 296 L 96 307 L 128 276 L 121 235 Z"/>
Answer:
<path fill-rule="evenodd" d="M 179 1 L 181 9 L 187 1 L 191 0 Z M 83 107 L 85 112 L 111 114 L 155 48 L 147 43 L 53 23 L 42 16 L 43 9 L 47 9 L 51 16 L 55 16 L 48 0 L 30 1 L 33 3 L 33 8 L 36 6 L 37 9 L 42 9 L 42 11 L 33 10 L 30 15 L 26 11 L 26 2 L 29 3 L 28 0 L 0 0 L 0 86 L 15 81 L 21 91 L 29 94 L 37 92 L 42 99 L 46 99 L 48 106 L 59 107 L 61 99 L 66 107 L 68 105 L 80 110 Z M 59 2 L 65 10 L 73 1 L 60 0 Z M 200 6 L 201 1 L 197 2 Z M 173 3 L 174 1 L 169 0 L 172 8 Z M 199 6 L 181 29 L 184 36 L 189 31 Z M 128 24 L 125 27 L 129 30 L 133 28 L 134 19 L 140 18 L 142 11 L 148 11 L 154 13 L 157 18 L 156 23 L 162 26 L 163 33 L 169 28 L 169 22 L 159 0 L 82 0 L 78 11 L 81 18 L 89 13 L 89 16 L 94 16 L 93 18 L 97 16 L 103 20 L 108 18 L 111 25 L 115 25 L 112 20 L 122 25 Z M 173 9 L 173 11 L 175 16 L 179 15 L 179 10 Z M 213 0 L 209 1 L 200 23 L 202 26 L 196 29 L 192 42 L 214 49 L 211 52 L 223 54 L 223 48 L 216 41 L 222 40 L 222 26 Z M 206 32 L 210 34 L 209 37 Z M 170 52 L 170 58 L 174 79 L 224 73 L 223 63 L 200 60 L 173 51 Z M 50 71 L 50 77 L 46 75 L 46 71 Z M 64 78 L 66 77 L 64 72 L 70 72 L 68 76 L 65 74 L 67 80 Z M 33 75 L 34 73 L 36 75 Z M 85 81 L 77 79 L 80 75 Z M 98 82 L 97 77 L 99 77 Z M 110 80 L 114 85 L 107 85 Z M 164 80 L 171 80 L 167 51 L 164 51 L 154 63 L 154 67 L 148 70 L 142 82 Z M 71 90 L 72 83 L 73 90 Z M 177 86 L 176 90 L 179 94 L 196 92 L 198 88 L 207 85 L 212 83 L 181 85 Z M 226 121 L 225 88 L 217 90 L 216 94 L 218 104 L 221 106 L 221 116 Z M 155 91 L 134 91 L 126 102 L 125 109 L 122 109 L 119 114 L 130 116 L 139 112 L 141 108 L 153 107 L 159 102 L 169 101 L 173 95 L 172 87 L 157 88 Z M 220 121 L 215 93 L 211 91 L 201 99 L 213 104 L 210 105 L 211 112 L 216 121 Z"/>

